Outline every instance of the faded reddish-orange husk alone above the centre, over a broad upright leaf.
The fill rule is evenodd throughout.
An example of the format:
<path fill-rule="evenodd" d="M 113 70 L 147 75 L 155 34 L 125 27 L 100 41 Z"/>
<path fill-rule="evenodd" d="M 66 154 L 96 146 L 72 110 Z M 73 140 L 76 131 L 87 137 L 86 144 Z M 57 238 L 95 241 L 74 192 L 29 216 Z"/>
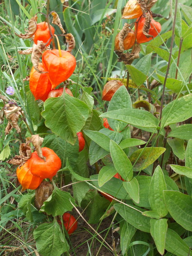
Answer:
<path fill-rule="evenodd" d="M 103 87 L 102 99 L 110 101 L 116 90 L 122 85 L 123 83 L 119 80 L 111 80 L 107 82 Z"/>

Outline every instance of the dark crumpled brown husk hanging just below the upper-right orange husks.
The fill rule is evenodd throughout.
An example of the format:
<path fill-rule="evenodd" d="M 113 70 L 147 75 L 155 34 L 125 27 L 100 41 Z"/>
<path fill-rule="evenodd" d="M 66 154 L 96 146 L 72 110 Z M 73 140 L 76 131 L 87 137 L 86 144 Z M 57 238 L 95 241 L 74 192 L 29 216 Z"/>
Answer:
<path fill-rule="evenodd" d="M 119 62 L 123 61 L 125 65 L 131 64 L 134 61 L 134 59 L 139 58 L 140 50 L 141 48 L 139 43 L 135 43 L 131 53 L 122 53 L 122 52 L 116 51 L 115 53 L 118 56 L 117 61 Z"/>

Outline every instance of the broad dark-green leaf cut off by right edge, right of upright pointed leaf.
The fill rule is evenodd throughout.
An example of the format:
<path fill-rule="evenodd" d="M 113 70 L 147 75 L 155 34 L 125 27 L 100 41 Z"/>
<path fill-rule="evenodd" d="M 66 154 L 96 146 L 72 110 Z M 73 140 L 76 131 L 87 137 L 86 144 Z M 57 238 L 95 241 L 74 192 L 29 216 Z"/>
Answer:
<path fill-rule="evenodd" d="M 163 192 L 165 204 L 173 219 L 192 231 L 192 197 L 178 191 Z"/>

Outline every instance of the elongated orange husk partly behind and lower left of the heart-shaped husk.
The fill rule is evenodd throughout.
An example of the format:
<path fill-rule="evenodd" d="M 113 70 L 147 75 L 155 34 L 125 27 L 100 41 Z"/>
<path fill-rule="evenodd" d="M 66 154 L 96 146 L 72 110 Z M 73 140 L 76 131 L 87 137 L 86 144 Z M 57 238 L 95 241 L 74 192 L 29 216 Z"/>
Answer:
<path fill-rule="evenodd" d="M 38 69 L 44 70 L 42 63 L 38 63 Z M 45 101 L 51 91 L 52 85 L 47 74 L 38 73 L 34 67 L 31 69 L 29 87 L 36 100 Z"/>

